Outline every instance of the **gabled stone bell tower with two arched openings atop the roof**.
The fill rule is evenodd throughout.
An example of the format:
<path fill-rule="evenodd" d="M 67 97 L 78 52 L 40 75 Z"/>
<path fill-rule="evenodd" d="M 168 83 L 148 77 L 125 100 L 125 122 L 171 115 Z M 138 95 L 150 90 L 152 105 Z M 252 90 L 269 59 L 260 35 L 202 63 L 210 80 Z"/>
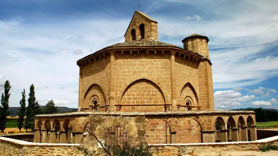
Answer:
<path fill-rule="evenodd" d="M 158 40 L 157 23 L 141 11 L 135 11 L 124 34 L 125 42 L 134 40 Z"/>

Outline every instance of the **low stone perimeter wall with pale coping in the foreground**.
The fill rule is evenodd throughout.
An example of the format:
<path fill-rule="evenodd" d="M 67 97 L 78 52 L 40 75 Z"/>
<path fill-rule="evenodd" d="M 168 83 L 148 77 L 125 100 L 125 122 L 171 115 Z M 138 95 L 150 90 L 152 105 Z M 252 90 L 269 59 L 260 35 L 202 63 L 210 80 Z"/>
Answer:
<path fill-rule="evenodd" d="M 257 141 L 191 143 L 191 144 L 150 144 L 154 156 L 177 156 L 178 154 L 207 155 L 212 151 L 246 151 L 258 150 L 265 143 L 278 144 L 278 136 Z M 79 144 L 32 143 L 0 137 L 0 155 L 2 156 L 84 156 L 77 149 Z"/>

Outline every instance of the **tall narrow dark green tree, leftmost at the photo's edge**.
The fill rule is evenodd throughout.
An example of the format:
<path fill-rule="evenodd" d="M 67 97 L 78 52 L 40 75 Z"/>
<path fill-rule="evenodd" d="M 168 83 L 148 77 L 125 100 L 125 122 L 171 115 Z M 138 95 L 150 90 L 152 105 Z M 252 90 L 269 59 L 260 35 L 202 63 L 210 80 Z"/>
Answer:
<path fill-rule="evenodd" d="M 3 132 L 6 129 L 6 121 L 8 116 L 10 114 L 9 109 L 9 98 L 11 94 L 9 93 L 11 89 L 10 82 L 6 80 L 4 85 L 4 93 L 2 93 L 1 96 L 1 104 L 0 106 L 0 130 Z"/>

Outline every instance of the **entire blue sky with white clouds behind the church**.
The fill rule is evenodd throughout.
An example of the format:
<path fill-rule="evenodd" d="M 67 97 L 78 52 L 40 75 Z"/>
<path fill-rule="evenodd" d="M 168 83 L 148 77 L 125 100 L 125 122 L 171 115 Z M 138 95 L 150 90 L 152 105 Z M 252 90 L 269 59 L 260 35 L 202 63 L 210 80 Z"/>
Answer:
<path fill-rule="evenodd" d="M 40 105 L 78 108 L 76 61 L 124 42 L 139 3 L 162 42 L 208 36 L 216 109 L 278 109 L 276 0 L 0 0 L 0 93 L 9 80 L 10 107 L 34 84 Z"/>

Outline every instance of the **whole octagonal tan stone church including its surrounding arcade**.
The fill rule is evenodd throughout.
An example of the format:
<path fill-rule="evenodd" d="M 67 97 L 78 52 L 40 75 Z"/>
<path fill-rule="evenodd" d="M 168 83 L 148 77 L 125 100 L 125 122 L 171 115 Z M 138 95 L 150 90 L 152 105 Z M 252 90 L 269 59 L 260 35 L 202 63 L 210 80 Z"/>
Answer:
<path fill-rule="evenodd" d="M 214 110 L 207 36 L 160 42 L 158 22 L 135 11 L 124 38 L 77 61 L 78 112 L 37 115 L 34 142 L 117 130 L 149 144 L 257 140 L 255 112 Z"/>

